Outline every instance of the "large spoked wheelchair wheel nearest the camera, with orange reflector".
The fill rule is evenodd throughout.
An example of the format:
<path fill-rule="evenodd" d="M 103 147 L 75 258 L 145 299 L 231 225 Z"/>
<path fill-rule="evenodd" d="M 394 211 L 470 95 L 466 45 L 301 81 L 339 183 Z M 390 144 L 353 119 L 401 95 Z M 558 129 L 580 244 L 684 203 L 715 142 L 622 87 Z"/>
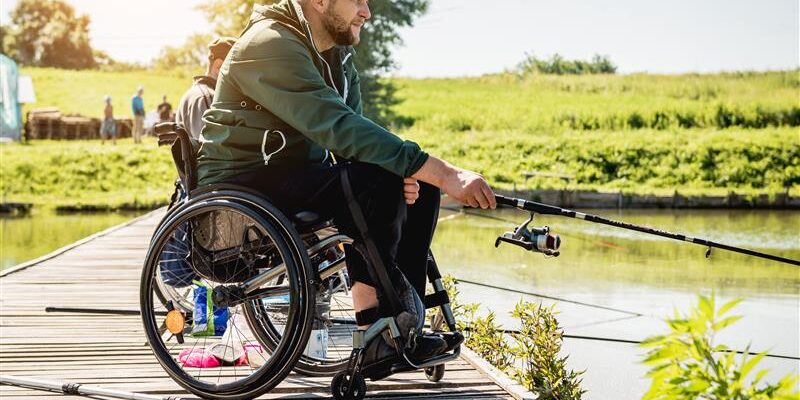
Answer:
<path fill-rule="evenodd" d="M 151 241 L 140 286 L 145 333 L 164 370 L 192 393 L 254 398 L 279 384 L 306 346 L 314 274 L 277 209 L 246 195 L 202 197 L 170 212 Z M 176 259 L 178 236 L 187 248 Z M 286 304 L 282 334 L 266 346 L 265 326 L 246 315 L 277 302 Z"/>

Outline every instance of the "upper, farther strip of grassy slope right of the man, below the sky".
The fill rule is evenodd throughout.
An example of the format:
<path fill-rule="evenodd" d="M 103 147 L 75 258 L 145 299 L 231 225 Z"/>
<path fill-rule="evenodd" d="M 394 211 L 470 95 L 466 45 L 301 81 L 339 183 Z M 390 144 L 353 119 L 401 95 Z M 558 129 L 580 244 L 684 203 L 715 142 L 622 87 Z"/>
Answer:
<path fill-rule="evenodd" d="M 430 132 L 800 125 L 800 71 L 399 79 L 397 113 Z"/>

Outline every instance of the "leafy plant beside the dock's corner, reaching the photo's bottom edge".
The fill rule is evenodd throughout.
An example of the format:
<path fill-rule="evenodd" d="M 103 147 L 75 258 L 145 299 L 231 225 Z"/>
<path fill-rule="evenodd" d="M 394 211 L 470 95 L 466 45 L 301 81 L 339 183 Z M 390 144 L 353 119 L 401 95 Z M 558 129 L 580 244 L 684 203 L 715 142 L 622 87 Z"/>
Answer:
<path fill-rule="evenodd" d="M 563 331 L 558 325 L 554 306 L 520 301 L 511 315 L 519 318 L 521 329 L 513 335 L 513 354 L 521 367 L 514 378 L 539 399 L 580 399 L 580 376 L 583 371 L 567 369 L 567 356 L 559 357 Z"/>

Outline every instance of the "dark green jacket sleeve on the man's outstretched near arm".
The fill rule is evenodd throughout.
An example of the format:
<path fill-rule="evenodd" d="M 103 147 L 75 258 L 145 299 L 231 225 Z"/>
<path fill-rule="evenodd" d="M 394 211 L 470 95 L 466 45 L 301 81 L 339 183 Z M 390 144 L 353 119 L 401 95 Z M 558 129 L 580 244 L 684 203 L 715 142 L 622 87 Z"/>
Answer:
<path fill-rule="evenodd" d="M 416 143 L 345 104 L 299 39 L 282 36 L 251 43 L 231 59 L 229 76 L 245 96 L 337 155 L 400 176 L 414 174 L 428 158 Z"/>

